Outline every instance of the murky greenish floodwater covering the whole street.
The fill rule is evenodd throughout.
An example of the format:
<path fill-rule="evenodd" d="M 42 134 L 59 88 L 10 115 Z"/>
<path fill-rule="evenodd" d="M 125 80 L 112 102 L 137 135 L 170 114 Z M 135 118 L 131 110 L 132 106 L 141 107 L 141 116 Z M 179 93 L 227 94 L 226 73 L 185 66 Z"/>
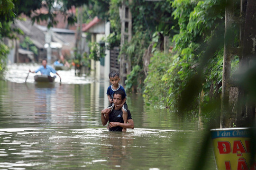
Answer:
<path fill-rule="evenodd" d="M 58 71 L 54 84 L 35 84 L 29 68 L 9 65 L 0 80 L 0 170 L 189 170 L 207 119 L 146 106 L 128 94 L 135 123 L 127 132 L 101 124 L 108 81 Z M 216 170 L 213 153 L 204 170 Z"/>

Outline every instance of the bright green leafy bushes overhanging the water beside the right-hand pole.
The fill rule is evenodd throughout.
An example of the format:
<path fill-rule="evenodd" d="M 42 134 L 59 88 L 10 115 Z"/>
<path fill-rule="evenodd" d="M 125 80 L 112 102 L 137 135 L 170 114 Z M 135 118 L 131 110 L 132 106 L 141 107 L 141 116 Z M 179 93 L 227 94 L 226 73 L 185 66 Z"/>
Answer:
<path fill-rule="evenodd" d="M 216 0 L 174 0 L 172 7 L 172 16 L 178 19 L 179 26 L 179 34 L 173 36 L 174 53 L 154 53 L 145 79 L 144 97 L 148 103 L 165 107 L 177 107 L 181 100 L 190 98 L 185 100 L 192 100 L 187 109 L 197 109 L 198 101 L 188 95 L 188 87 L 193 91 L 192 86 L 201 82 L 204 104 L 220 97 L 223 43 L 216 46 L 211 56 L 203 56 L 212 39 L 224 37 L 225 5 Z M 203 74 L 202 80 L 198 74 Z"/>

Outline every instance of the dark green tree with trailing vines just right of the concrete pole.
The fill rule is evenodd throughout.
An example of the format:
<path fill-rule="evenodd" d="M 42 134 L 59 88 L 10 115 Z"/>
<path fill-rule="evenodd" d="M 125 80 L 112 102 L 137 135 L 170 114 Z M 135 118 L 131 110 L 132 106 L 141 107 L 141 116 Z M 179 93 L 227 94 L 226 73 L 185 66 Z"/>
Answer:
<path fill-rule="evenodd" d="M 171 17 L 174 8 L 171 6 L 171 0 L 166 1 L 133 1 L 130 5 L 132 13 L 132 40 L 123 46 L 121 52 L 126 51 L 129 62 L 131 63 L 131 73 L 138 75 L 137 81 L 132 81 L 128 76 L 126 89 L 129 91 L 137 88 L 138 92 L 143 91 L 144 87 L 144 71 L 143 71 L 143 54 L 152 42 L 152 35 L 157 32 L 161 34 L 163 42 L 164 36 L 172 36 L 177 31 L 172 29 L 176 25 L 176 21 Z M 159 48 L 163 50 L 163 43 Z M 139 67 L 137 67 L 139 66 Z M 140 69 L 138 69 L 140 68 Z M 131 80 L 131 81 L 130 81 Z M 139 82 L 137 84 L 137 82 Z"/>

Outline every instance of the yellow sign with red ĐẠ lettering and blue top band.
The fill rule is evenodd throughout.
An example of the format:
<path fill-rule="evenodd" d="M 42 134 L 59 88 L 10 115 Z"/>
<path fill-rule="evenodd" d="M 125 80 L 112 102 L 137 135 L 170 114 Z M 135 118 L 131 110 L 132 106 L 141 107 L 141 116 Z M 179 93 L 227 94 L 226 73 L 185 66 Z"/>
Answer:
<path fill-rule="evenodd" d="M 251 164 L 250 128 L 211 129 L 213 151 L 218 170 L 256 170 Z"/>

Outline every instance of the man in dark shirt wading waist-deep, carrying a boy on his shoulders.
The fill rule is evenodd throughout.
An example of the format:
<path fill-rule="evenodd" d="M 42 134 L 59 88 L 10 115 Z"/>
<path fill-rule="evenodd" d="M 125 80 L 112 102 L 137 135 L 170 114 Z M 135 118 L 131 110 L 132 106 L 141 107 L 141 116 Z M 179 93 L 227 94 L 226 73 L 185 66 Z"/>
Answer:
<path fill-rule="evenodd" d="M 125 99 L 125 93 L 121 90 L 116 91 L 113 94 L 113 104 L 114 107 L 107 108 L 101 110 L 101 122 L 102 125 L 107 125 L 108 121 L 109 123 L 109 130 L 110 131 L 122 131 L 123 128 L 134 128 L 134 123 L 131 117 L 130 110 L 128 111 L 128 117 L 127 117 L 127 123 L 124 123 L 123 119 L 123 111 L 121 103 Z"/>

